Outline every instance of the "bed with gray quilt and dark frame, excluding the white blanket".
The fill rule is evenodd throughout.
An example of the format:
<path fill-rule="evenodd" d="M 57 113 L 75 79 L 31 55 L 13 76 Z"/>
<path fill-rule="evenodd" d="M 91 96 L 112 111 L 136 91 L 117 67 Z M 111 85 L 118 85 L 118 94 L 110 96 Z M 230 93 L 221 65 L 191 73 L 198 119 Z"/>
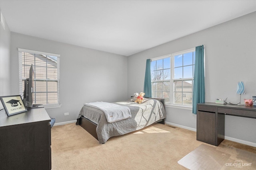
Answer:
<path fill-rule="evenodd" d="M 162 98 L 145 98 L 141 104 L 130 100 L 113 104 L 128 107 L 131 117 L 108 123 L 106 115 L 101 109 L 84 104 L 78 115 L 76 125 L 83 127 L 100 144 L 103 144 L 110 137 L 124 135 L 153 123 L 165 124 L 165 100 Z"/>

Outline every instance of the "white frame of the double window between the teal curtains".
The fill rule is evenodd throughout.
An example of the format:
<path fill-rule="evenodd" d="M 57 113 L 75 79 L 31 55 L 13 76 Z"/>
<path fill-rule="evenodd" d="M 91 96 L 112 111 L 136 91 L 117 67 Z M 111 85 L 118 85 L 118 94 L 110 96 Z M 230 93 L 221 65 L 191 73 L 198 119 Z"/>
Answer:
<path fill-rule="evenodd" d="M 170 57 L 170 72 L 171 72 L 171 75 L 170 75 L 170 96 L 169 96 L 170 103 L 167 103 L 166 106 L 171 106 L 171 107 L 175 107 L 175 108 L 182 108 L 182 109 L 189 109 L 189 110 L 192 109 L 192 105 L 190 106 L 190 105 L 184 105 L 184 104 L 174 104 L 174 81 L 192 80 L 192 86 L 193 86 L 193 83 L 194 83 L 194 66 L 193 66 L 193 69 L 192 69 L 192 71 L 193 71 L 193 75 L 192 75 L 193 77 L 192 78 L 174 79 L 174 57 L 177 56 L 177 55 L 182 55 L 182 54 L 191 53 L 191 52 L 195 52 L 195 51 L 196 51 L 196 48 L 194 47 L 194 48 L 187 49 L 187 50 L 184 50 L 184 51 L 179 51 L 179 52 L 176 52 L 176 53 L 172 53 L 172 54 L 168 54 L 168 55 L 164 55 L 164 56 L 160 56 L 160 57 L 156 57 L 156 58 L 151 59 L 151 61 L 157 61 L 157 60 L 160 60 L 160 59 L 166 59 L 166 58 Z M 193 63 L 192 63 L 193 65 L 195 64 L 194 61 L 195 60 L 193 59 Z M 182 64 L 182 67 L 183 67 L 183 64 Z M 161 80 L 161 81 L 160 80 L 158 80 L 158 81 L 152 81 L 151 80 L 151 83 L 152 82 L 165 82 L 165 81 L 166 80 Z M 193 95 L 193 92 L 192 92 L 192 95 Z"/>

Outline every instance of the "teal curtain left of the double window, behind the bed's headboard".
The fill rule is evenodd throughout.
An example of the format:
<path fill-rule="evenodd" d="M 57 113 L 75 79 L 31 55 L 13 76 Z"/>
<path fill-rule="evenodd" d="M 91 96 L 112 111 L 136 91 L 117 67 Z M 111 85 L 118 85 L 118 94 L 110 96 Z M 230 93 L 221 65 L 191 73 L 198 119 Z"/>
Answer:
<path fill-rule="evenodd" d="M 147 59 L 145 80 L 144 80 L 144 93 L 145 93 L 144 97 L 145 98 L 152 98 L 150 63 L 151 63 L 150 59 Z"/>

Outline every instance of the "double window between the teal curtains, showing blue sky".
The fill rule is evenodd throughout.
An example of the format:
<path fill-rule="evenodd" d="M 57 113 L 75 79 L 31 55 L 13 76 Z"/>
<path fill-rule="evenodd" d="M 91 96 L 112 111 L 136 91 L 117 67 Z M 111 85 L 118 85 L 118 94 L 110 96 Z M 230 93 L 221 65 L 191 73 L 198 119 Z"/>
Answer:
<path fill-rule="evenodd" d="M 152 59 L 152 97 L 192 106 L 195 48 Z"/>

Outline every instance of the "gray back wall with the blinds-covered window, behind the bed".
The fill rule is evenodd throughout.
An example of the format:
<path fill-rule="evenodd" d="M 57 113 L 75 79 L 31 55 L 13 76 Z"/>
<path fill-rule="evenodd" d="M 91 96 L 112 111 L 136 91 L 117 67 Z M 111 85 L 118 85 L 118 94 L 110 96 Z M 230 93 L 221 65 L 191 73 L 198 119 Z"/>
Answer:
<path fill-rule="evenodd" d="M 127 99 L 127 57 L 11 32 L 11 94 L 19 94 L 18 48 L 60 54 L 56 123 L 76 120 L 84 103 Z M 64 113 L 68 112 L 68 116 Z"/>

